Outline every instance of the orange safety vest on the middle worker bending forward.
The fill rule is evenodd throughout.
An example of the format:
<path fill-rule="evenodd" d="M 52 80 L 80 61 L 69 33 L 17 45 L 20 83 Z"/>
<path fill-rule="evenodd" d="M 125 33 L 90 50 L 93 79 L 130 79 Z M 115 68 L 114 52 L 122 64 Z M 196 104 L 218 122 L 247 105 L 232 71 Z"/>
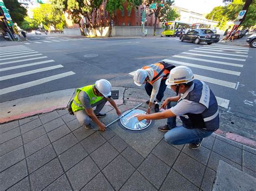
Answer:
<path fill-rule="evenodd" d="M 161 77 L 163 77 L 162 80 L 166 79 L 167 76 L 170 74 L 170 71 L 167 69 L 164 69 L 164 65 L 162 65 L 161 63 L 153 63 L 152 65 L 149 66 L 144 66 L 142 69 L 147 69 L 147 68 L 152 68 L 154 70 L 154 76 L 152 81 L 148 81 L 151 85 L 156 82 L 158 79 L 160 79 Z M 157 77 L 157 75 L 161 72 L 161 70 L 164 69 L 164 72 L 161 73 L 161 75 L 159 75 Z"/>

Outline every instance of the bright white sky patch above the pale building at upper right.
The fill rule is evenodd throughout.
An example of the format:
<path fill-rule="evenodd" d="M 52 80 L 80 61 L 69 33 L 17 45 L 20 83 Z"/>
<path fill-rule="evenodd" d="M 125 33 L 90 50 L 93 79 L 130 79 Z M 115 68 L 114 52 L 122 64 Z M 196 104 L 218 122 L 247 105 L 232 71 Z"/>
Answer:
<path fill-rule="evenodd" d="M 174 5 L 198 13 L 209 13 L 215 6 L 223 5 L 222 0 L 175 0 Z"/>

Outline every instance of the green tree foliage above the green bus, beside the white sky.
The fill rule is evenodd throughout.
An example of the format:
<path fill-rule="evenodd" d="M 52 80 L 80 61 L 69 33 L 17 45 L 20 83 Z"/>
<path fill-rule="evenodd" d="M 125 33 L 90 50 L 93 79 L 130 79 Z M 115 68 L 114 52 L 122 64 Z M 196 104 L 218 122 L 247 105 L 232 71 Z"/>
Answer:
<path fill-rule="evenodd" d="M 176 12 L 175 9 L 173 9 L 171 7 L 171 5 L 173 4 L 174 1 L 172 2 L 166 2 L 164 4 L 163 9 L 161 9 L 160 11 L 160 17 L 159 17 L 159 21 L 160 22 L 167 22 L 169 20 L 175 20 L 177 19 L 180 15 Z"/>

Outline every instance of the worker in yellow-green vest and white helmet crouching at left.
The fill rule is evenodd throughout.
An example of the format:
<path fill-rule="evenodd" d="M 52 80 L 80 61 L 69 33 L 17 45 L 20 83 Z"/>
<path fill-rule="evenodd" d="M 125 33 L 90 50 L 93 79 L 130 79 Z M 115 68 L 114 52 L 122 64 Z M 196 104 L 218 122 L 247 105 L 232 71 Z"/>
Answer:
<path fill-rule="evenodd" d="M 121 115 L 116 102 L 111 98 L 110 82 L 101 79 L 90 86 L 78 88 L 71 107 L 78 121 L 84 125 L 85 129 L 91 129 L 90 122 L 92 119 L 99 126 L 100 130 L 105 131 L 106 126 L 99 121 L 98 117 L 106 116 L 106 114 L 100 113 L 100 111 L 107 101 L 116 109 L 117 115 Z M 96 107 L 94 111 L 92 109 L 93 107 Z"/>

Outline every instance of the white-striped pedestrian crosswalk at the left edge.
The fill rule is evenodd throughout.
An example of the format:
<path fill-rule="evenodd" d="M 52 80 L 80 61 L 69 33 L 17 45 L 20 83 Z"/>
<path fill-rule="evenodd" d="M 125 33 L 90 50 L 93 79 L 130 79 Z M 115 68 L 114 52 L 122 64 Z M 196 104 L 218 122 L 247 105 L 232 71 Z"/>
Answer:
<path fill-rule="evenodd" d="M 72 71 L 58 72 L 58 69 L 63 67 L 63 65 L 56 65 L 55 60 L 48 59 L 48 56 L 24 45 L 0 47 L 0 95 L 75 74 Z M 44 77 L 37 77 L 37 75 L 33 75 L 33 79 L 31 77 L 32 74 L 42 74 L 49 71 L 54 71 L 55 75 L 49 76 L 50 73 L 48 73 L 47 75 L 39 75 Z M 24 80 L 25 78 L 26 80 Z"/>

